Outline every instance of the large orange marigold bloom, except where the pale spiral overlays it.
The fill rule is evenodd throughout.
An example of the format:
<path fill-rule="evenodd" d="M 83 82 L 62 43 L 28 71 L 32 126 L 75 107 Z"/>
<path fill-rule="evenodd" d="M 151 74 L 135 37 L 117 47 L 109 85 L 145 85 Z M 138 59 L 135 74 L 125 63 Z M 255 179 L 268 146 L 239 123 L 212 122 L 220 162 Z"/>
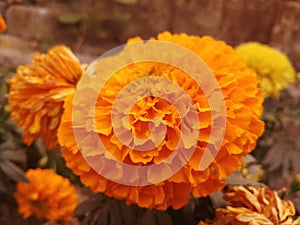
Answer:
<path fill-rule="evenodd" d="M 129 42 L 138 40 L 140 39 L 136 38 Z M 264 130 L 264 124 L 259 119 L 262 114 L 263 95 L 262 90 L 257 88 L 256 74 L 247 69 L 241 56 L 223 41 L 216 41 L 208 36 L 200 38 L 186 34 L 172 35 L 168 32 L 159 34 L 157 40 L 183 46 L 197 54 L 206 62 L 221 87 L 226 104 L 226 131 L 221 149 L 209 167 L 199 171 L 199 161 L 204 154 L 204 149 L 210 144 L 208 141 L 213 109 L 209 108 L 206 97 L 193 79 L 174 66 L 164 63 L 136 63 L 116 72 L 105 83 L 98 95 L 95 105 L 96 127 L 91 126 L 90 116 L 92 113 L 72 111 L 72 107 L 77 103 L 73 102 L 72 97 L 68 98 L 65 102 L 65 113 L 62 117 L 58 137 L 60 144 L 65 146 L 62 153 L 67 166 L 81 177 L 83 184 L 89 186 L 94 192 L 126 199 L 128 204 L 136 203 L 140 207 L 165 210 L 172 206 L 178 209 L 187 204 L 191 193 L 195 197 L 202 197 L 223 188 L 225 183 L 222 179 L 241 165 L 242 156 L 254 149 L 258 137 Z M 126 51 L 126 47 L 124 51 Z M 132 54 L 133 57 L 137 55 Z M 81 144 L 86 148 L 79 149 L 73 129 L 95 132 L 110 154 L 126 164 L 147 166 L 161 162 L 174 151 L 180 137 L 179 116 L 171 103 L 159 97 L 146 97 L 140 99 L 129 113 L 130 129 L 136 137 L 140 138 L 140 141 L 151 136 L 149 121 L 152 118 L 159 117 L 165 122 L 167 128 L 164 139 L 160 145 L 150 151 L 132 150 L 122 144 L 112 128 L 110 112 L 114 99 L 122 87 L 135 79 L 147 76 L 172 80 L 189 94 L 195 103 L 197 114 L 201 118 L 200 135 L 193 156 L 175 175 L 162 182 L 147 186 L 129 186 L 108 180 L 91 168 L 82 156 L 82 151 L 87 151 L 88 155 L 93 157 L 97 157 L 101 151 L 94 149 L 95 145 L 87 143 L 85 140 L 81 140 Z M 211 84 L 210 80 L 203 82 L 203 85 L 206 86 Z M 164 90 L 165 87 L 156 86 L 156 89 Z M 89 99 L 90 93 L 86 92 L 86 99 Z M 84 105 L 86 101 L 79 104 Z M 119 111 L 122 109 L 120 108 Z M 72 112 L 76 115 L 72 115 Z M 81 117 L 82 123 L 73 124 L 73 126 L 72 116 Z M 159 139 L 161 134 L 154 133 L 151 137 Z M 129 142 L 132 142 L 132 139 L 128 140 Z M 111 171 L 111 165 L 102 163 L 101 166 L 103 167 L 101 170 Z M 126 176 L 126 172 L 122 173 L 121 171 L 115 176 Z M 138 175 L 136 179 L 139 179 Z"/>

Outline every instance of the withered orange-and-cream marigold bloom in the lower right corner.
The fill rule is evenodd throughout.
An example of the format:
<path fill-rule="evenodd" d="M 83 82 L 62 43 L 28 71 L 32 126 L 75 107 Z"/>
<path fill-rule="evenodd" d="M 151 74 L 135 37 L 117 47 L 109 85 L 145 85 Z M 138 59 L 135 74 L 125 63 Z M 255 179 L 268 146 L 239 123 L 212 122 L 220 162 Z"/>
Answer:
<path fill-rule="evenodd" d="M 295 208 L 291 201 L 279 198 L 268 188 L 234 186 L 225 194 L 225 209 L 217 209 L 216 218 L 199 225 L 298 225 L 293 219 Z"/>

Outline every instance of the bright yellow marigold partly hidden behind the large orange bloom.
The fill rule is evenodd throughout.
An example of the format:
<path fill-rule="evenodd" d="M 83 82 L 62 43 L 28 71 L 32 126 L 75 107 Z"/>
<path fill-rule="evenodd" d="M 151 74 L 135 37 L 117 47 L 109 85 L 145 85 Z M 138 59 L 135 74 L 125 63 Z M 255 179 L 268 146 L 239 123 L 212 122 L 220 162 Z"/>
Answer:
<path fill-rule="evenodd" d="M 245 57 L 247 66 L 257 73 L 265 97 L 278 95 L 295 81 L 292 63 L 281 51 L 257 42 L 241 44 L 236 50 Z"/>

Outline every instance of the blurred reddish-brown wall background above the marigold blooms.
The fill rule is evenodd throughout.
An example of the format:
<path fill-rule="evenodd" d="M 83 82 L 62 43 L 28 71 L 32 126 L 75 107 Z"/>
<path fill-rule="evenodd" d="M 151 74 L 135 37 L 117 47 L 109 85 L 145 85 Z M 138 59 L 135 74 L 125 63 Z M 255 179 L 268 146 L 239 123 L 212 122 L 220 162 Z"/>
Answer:
<path fill-rule="evenodd" d="M 57 44 L 89 63 L 130 37 L 168 30 L 269 44 L 300 69 L 300 0 L 0 0 L 0 12 L 0 64 L 12 67 Z"/>

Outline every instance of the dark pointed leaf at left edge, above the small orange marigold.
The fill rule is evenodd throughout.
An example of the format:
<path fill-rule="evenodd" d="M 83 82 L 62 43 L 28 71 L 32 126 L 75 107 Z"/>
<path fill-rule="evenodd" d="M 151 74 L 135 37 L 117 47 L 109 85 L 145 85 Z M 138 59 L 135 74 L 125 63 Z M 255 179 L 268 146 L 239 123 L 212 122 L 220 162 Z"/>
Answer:
<path fill-rule="evenodd" d="M 1 161 L 0 168 L 10 179 L 14 181 L 28 183 L 28 180 L 26 179 L 23 170 L 11 161 Z"/>

